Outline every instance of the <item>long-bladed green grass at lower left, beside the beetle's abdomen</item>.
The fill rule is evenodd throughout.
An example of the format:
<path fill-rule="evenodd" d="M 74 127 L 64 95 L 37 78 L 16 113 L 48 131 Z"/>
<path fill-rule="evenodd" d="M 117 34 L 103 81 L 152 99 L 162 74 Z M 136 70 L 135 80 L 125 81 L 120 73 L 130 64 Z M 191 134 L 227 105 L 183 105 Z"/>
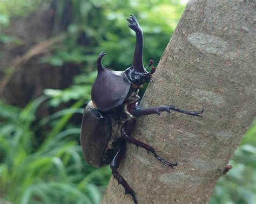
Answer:
<path fill-rule="evenodd" d="M 83 102 L 32 125 L 46 97 L 18 109 L 0 103 L 0 199 L 11 203 L 99 203 L 110 169 L 96 169 L 82 156 L 79 127 L 64 129 Z M 49 122 L 54 125 L 51 126 Z M 49 126 L 42 143 L 35 129 Z M 37 147 L 35 147 L 37 146 Z"/>

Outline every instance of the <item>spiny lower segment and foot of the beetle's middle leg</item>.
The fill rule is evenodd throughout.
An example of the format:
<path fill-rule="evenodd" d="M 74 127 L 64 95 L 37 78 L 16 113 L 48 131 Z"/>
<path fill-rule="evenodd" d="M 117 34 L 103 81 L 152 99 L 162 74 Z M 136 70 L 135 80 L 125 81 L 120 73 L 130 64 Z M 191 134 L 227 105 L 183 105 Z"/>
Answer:
<path fill-rule="evenodd" d="M 127 133 L 125 132 L 124 126 L 122 127 L 122 135 L 124 136 L 126 142 L 128 142 L 130 144 L 132 143 L 132 144 L 136 145 L 137 147 L 139 146 L 139 147 L 144 148 L 148 154 L 149 154 L 149 152 L 152 152 L 154 157 L 156 157 L 159 161 L 163 162 L 167 166 L 171 166 L 172 168 L 173 168 L 173 166 L 177 166 L 177 163 L 172 164 L 172 163 L 162 159 L 161 157 L 159 157 L 158 154 L 156 153 L 156 151 L 154 151 L 153 147 L 151 147 L 143 142 L 140 142 L 137 139 L 134 139 L 134 138 L 128 136 Z"/>

